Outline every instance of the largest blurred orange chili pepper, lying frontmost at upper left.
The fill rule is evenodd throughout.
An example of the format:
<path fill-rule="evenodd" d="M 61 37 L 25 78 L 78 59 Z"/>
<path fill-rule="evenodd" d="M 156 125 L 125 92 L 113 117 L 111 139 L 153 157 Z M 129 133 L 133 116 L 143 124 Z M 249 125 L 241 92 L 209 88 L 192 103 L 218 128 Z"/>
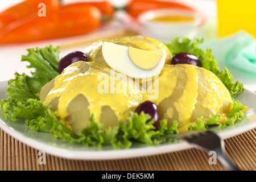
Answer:
<path fill-rule="evenodd" d="M 101 24 L 101 11 L 95 6 L 63 6 L 46 16 L 27 16 L 14 27 L 0 31 L 0 43 L 30 42 L 87 34 Z"/>

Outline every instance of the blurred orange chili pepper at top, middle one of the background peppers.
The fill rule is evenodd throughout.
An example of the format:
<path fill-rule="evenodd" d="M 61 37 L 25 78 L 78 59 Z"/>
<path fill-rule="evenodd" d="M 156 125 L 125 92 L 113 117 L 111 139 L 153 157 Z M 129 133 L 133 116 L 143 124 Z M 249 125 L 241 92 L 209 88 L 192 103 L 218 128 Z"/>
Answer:
<path fill-rule="evenodd" d="M 114 7 L 112 6 L 112 4 L 110 4 L 108 1 L 92 1 L 92 2 L 77 2 L 77 3 L 71 3 L 71 4 L 67 4 L 66 6 L 69 7 L 84 7 L 84 6 L 96 6 L 102 13 L 102 18 L 104 20 L 109 20 L 111 18 L 113 18 L 114 15 Z"/>

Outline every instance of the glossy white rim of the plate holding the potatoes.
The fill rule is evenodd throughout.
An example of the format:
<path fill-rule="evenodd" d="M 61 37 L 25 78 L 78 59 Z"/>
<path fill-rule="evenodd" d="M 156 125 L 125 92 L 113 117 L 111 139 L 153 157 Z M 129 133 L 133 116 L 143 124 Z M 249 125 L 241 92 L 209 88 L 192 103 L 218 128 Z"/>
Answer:
<path fill-rule="evenodd" d="M 7 85 L 7 81 L 0 81 L 0 85 Z M 0 88 L 1 89 L 1 88 Z M 245 89 L 246 92 L 250 92 L 253 94 L 253 91 Z M 218 133 L 221 139 L 226 139 L 230 137 L 234 137 L 236 135 L 245 133 L 251 129 L 256 127 L 256 120 L 246 123 L 245 125 L 239 126 L 240 129 L 235 134 L 232 132 L 234 129 L 230 129 L 228 131 L 222 131 Z M 158 155 L 164 154 L 167 152 L 175 152 L 186 150 L 189 148 L 193 148 L 192 144 L 189 144 L 185 141 L 180 141 L 177 143 L 166 143 L 160 144 L 156 146 L 148 146 L 148 147 L 139 147 L 139 148 L 127 148 L 122 150 L 102 150 L 102 151 L 70 151 L 64 148 L 51 146 L 49 144 L 43 143 L 41 141 L 35 140 L 33 138 L 27 137 L 26 135 L 16 131 L 12 127 L 8 126 L 5 121 L 0 119 L 0 128 L 5 131 L 5 133 L 9 134 L 11 137 L 19 140 L 20 142 L 35 148 L 38 151 L 44 151 L 46 154 L 50 154 L 53 156 L 66 158 L 66 159 L 76 159 L 76 160 L 106 160 L 106 159 L 127 159 L 134 157 L 142 157 L 142 156 L 150 156 L 150 155 Z M 237 128 L 236 128 L 237 129 Z"/>

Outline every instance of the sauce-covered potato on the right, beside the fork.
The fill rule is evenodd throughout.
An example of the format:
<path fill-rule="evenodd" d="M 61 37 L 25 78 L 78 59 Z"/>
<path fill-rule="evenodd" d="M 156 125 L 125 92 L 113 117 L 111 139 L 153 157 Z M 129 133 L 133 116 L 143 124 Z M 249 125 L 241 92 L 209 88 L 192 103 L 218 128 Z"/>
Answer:
<path fill-rule="evenodd" d="M 194 65 L 164 65 L 149 87 L 158 89 L 143 93 L 143 101 L 155 102 L 160 119 L 166 119 L 168 126 L 178 121 L 179 131 L 186 131 L 198 117 L 225 115 L 232 109 L 233 100 L 225 85 L 212 72 Z"/>

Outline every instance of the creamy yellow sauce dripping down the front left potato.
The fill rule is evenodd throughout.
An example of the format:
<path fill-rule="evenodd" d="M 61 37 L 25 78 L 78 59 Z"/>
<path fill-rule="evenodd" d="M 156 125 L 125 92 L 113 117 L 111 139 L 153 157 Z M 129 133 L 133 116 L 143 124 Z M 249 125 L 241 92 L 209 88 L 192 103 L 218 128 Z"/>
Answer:
<path fill-rule="evenodd" d="M 87 63 L 84 61 L 73 63 L 65 68 L 63 73 L 55 77 L 54 88 L 48 93 L 44 104 L 49 105 L 54 98 L 60 97 L 57 116 L 60 117 L 61 122 L 67 124 L 65 119 L 68 117 L 67 108 L 69 103 L 77 95 L 84 94 L 89 102 L 90 114 L 94 114 L 97 122 L 100 121 L 102 106 L 110 106 L 118 120 L 126 119 L 127 110 L 141 102 L 141 92 L 133 86 L 130 86 L 132 87 L 130 88 L 128 85 L 127 87 L 123 86 L 123 92 L 118 93 L 118 90 L 114 89 L 120 84 L 121 79 L 119 81 L 115 80 L 115 73 L 113 73 L 113 76 L 109 75 L 110 68 L 90 62 L 88 63 L 90 67 L 83 73 L 80 67 L 81 64 Z M 101 85 L 101 83 L 104 83 L 102 82 L 104 79 L 105 85 Z M 129 92 L 129 89 L 131 92 Z"/>

